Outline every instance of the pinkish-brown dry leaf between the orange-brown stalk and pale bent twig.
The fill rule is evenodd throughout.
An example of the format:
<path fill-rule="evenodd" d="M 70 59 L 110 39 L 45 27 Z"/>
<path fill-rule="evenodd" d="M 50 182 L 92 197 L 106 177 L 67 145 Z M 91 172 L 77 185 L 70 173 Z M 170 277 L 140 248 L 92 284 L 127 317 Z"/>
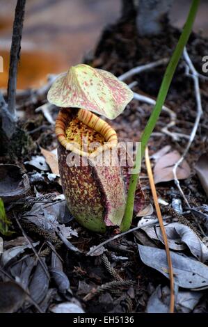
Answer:
<path fill-rule="evenodd" d="M 169 152 L 168 154 L 163 155 L 154 166 L 154 183 L 168 182 L 174 180 L 173 176 L 173 167 L 175 163 L 179 161 L 181 155 L 177 150 Z M 184 180 L 188 178 L 191 174 L 191 169 L 186 160 L 177 168 L 177 178 L 178 180 Z"/>

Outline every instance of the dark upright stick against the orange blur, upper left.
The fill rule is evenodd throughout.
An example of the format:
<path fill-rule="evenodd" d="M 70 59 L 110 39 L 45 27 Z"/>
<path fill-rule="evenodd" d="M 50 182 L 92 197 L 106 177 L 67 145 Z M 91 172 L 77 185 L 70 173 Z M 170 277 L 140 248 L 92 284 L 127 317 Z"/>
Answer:
<path fill-rule="evenodd" d="M 24 21 L 24 8 L 26 0 L 17 0 L 17 6 L 15 9 L 15 20 L 13 24 L 13 38 L 10 49 L 10 67 L 9 67 L 9 79 L 8 79 L 8 111 L 13 117 L 16 117 L 15 110 L 15 97 L 17 88 L 17 66 L 19 61 L 22 29 Z"/>

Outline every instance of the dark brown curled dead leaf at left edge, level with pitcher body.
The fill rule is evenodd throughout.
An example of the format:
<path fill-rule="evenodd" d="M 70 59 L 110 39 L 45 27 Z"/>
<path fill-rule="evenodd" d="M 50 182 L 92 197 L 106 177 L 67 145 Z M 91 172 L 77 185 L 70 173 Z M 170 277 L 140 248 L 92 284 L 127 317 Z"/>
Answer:
<path fill-rule="evenodd" d="M 29 178 L 15 165 L 0 165 L 0 198 L 4 203 L 23 198 L 30 189 Z"/>

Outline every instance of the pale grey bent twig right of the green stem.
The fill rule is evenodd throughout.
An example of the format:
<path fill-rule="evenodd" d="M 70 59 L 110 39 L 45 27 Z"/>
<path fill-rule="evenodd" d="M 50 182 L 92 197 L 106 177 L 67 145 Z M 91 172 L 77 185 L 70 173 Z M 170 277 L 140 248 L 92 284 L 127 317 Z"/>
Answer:
<path fill-rule="evenodd" d="M 202 111 L 202 101 L 201 101 L 200 86 L 199 86 L 199 74 L 195 70 L 195 67 L 193 67 L 193 63 L 191 62 L 191 59 L 189 57 L 189 54 L 188 54 L 186 48 L 184 48 L 184 59 L 185 59 L 187 65 L 189 66 L 189 69 L 191 70 L 191 74 L 189 74 L 189 76 L 193 79 L 193 83 L 194 83 L 195 99 L 196 99 L 196 105 L 197 105 L 197 115 L 195 118 L 195 123 L 193 125 L 193 129 L 189 136 L 189 142 L 186 145 L 184 153 L 182 154 L 182 157 L 179 159 L 179 161 L 177 161 L 177 163 L 175 163 L 175 166 L 173 167 L 173 176 L 174 176 L 174 181 L 177 186 L 177 189 L 182 194 L 182 197 L 184 198 L 184 201 L 186 202 L 187 207 L 191 208 L 191 206 L 189 205 L 189 202 L 186 199 L 186 196 L 184 195 L 184 192 L 179 184 L 179 180 L 177 179 L 177 168 L 182 163 L 184 158 L 186 157 L 186 154 L 189 152 L 191 144 L 195 138 L 195 134 L 198 129 L 198 125 L 200 123 L 200 118 L 201 118 L 203 111 Z"/>

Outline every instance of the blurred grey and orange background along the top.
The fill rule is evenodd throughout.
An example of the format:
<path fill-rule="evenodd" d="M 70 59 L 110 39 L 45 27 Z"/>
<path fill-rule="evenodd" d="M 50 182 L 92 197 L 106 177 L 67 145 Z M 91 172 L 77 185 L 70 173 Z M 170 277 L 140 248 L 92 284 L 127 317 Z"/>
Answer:
<path fill-rule="evenodd" d="M 170 12 L 173 25 L 182 27 L 191 0 L 175 0 Z M 16 0 L 0 0 L 0 56 L 6 88 L 9 51 Z M 202 0 L 194 30 L 208 36 L 208 1 Z M 47 74 L 80 63 L 95 47 L 106 24 L 120 17 L 120 0 L 27 0 L 19 63 L 18 88 L 39 87 Z M 208 49 L 207 49 L 208 51 Z"/>

